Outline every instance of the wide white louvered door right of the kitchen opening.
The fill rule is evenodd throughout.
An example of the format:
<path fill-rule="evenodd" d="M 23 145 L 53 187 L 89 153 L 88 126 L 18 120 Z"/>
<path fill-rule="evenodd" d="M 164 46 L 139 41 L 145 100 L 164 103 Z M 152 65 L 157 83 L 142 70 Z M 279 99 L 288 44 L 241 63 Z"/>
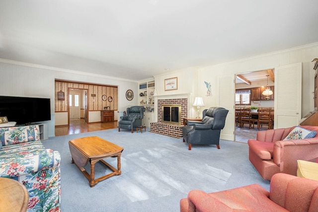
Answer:
<path fill-rule="evenodd" d="M 275 68 L 274 129 L 296 126 L 302 111 L 302 64 Z"/>

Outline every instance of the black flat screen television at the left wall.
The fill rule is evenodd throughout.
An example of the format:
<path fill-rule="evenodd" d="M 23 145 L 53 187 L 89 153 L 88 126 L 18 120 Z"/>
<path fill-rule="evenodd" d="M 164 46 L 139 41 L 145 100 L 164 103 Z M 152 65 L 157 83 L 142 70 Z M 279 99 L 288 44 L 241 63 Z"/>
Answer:
<path fill-rule="evenodd" d="M 51 120 L 51 100 L 17 96 L 0 96 L 0 117 L 16 125 L 29 125 Z"/>

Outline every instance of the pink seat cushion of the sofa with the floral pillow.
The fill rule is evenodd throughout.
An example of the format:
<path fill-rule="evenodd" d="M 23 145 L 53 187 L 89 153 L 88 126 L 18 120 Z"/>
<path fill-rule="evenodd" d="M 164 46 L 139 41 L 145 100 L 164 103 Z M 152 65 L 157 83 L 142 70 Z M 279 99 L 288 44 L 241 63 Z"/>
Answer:
<path fill-rule="evenodd" d="M 252 149 L 255 154 L 259 156 L 262 160 L 270 160 L 273 158 L 274 143 L 273 142 L 264 142 L 256 140 L 248 140 L 248 146 Z"/>

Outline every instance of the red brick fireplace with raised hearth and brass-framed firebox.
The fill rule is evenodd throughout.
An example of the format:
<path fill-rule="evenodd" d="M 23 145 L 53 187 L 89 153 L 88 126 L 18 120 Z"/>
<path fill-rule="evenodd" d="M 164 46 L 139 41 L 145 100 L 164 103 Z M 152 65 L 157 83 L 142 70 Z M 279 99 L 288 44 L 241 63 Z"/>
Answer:
<path fill-rule="evenodd" d="M 188 116 L 188 98 L 158 99 L 157 120 L 150 123 L 150 131 L 174 138 L 182 137 L 183 118 Z M 162 122 L 162 105 L 181 105 L 181 125 Z"/>

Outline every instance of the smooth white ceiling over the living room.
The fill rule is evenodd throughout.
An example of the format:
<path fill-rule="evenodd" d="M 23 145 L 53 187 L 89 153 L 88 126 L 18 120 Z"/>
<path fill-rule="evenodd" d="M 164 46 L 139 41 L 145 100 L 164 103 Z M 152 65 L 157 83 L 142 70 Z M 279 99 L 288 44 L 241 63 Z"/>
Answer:
<path fill-rule="evenodd" d="M 0 0 L 0 58 L 133 80 L 315 42 L 317 0 Z"/>

